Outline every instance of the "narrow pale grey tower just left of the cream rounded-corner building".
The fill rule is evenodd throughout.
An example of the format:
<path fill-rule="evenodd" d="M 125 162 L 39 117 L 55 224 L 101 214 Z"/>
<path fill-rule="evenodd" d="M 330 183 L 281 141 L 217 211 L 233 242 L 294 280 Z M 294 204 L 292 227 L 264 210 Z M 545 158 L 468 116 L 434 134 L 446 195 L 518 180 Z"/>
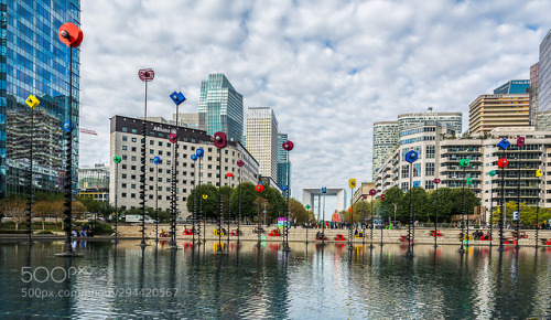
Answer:
<path fill-rule="evenodd" d="M 372 171 L 375 179 L 377 170 L 398 146 L 398 121 L 380 121 L 374 124 Z"/>

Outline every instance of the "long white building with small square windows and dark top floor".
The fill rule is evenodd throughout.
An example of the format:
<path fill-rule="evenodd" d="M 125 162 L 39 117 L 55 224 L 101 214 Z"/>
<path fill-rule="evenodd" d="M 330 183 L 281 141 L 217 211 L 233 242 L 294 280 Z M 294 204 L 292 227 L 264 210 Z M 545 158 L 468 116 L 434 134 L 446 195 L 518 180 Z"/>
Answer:
<path fill-rule="evenodd" d="M 186 127 L 176 127 L 169 124 L 147 121 L 147 156 L 145 161 L 145 206 L 154 207 L 159 191 L 160 210 L 171 207 L 171 170 L 173 161 L 173 147 L 169 141 L 169 135 L 175 132 L 179 138 L 179 200 L 177 209 L 181 216 L 188 214 L 186 200 L 194 188 L 198 177 L 198 161 L 194 162 L 191 156 L 197 148 L 205 151 L 202 160 L 202 183 L 210 183 L 218 186 L 218 151 L 214 147 L 213 137 L 205 131 Z M 119 207 L 138 207 L 140 198 L 140 159 L 142 120 L 114 116 L 110 119 L 110 183 L 109 199 L 115 203 L 115 196 Z M 116 166 L 112 158 L 119 156 L 122 161 Z M 153 158 L 160 157 L 161 163 L 154 164 Z M 238 142 L 228 141 L 228 147 L 223 149 L 223 185 L 237 186 L 239 183 L 239 167 L 237 160 L 244 160 L 241 167 L 241 181 L 257 182 L 259 164 L 255 158 Z M 197 166 L 195 166 L 197 164 Z M 234 178 L 225 173 L 234 173 Z"/>

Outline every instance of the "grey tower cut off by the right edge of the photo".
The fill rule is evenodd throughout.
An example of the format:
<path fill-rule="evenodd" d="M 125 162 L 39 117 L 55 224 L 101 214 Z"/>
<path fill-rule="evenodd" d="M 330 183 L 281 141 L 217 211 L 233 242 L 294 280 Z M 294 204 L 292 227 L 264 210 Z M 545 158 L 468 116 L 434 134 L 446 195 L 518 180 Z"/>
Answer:
<path fill-rule="evenodd" d="M 551 30 L 540 44 L 538 130 L 551 130 Z"/>

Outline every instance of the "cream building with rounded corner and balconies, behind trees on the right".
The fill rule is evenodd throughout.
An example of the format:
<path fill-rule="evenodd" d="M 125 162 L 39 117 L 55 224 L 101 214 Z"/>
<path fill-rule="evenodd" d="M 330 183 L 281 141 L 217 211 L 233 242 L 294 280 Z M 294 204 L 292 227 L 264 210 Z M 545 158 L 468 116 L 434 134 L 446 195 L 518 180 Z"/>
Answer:
<path fill-rule="evenodd" d="M 443 131 L 443 127 L 435 127 L 436 130 L 439 128 Z M 417 137 L 404 138 L 430 137 L 429 132 L 412 134 Z M 435 178 L 441 179 L 440 186 L 450 188 L 462 188 L 466 179 L 471 178 L 473 184 L 466 186 L 482 200 L 483 212 L 489 212 L 490 207 L 499 205 L 501 199 L 501 169 L 497 167 L 497 161 L 506 158 L 509 164 L 503 175 L 505 201 L 516 202 L 520 190 L 521 202 L 551 207 L 551 186 L 548 186 L 551 185 L 551 174 L 548 174 L 551 169 L 548 168 L 551 166 L 551 131 L 539 131 L 534 127 L 504 127 L 491 130 L 489 135 L 479 134 L 468 139 L 452 139 L 451 131 L 439 132 L 433 137 L 434 140 L 429 140 L 424 146 L 420 146 L 419 141 L 400 145 L 400 149 L 385 161 L 376 177 L 378 193 L 391 186 L 400 186 L 403 191 L 410 188 L 409 163 L 402 159 L 407 151 L 413 149 L 420 152 L 420 157 L 413 163 L 412 180 L 419 181 L 420 186 L 426 190 L 434 188 Z M 526 138 L 525 147 L 516 146 L 518 137 Z M 497 147 L 504 138 L 511 142 L 507 151 Z M 458 164 L 461 159 L 469 159 L 469 166 L 463 169 Z M 494 178 L 489 175 L 493 170 L 497 171 Z M 543 177 L 537 178 L 537 170 L 543 170 Z"/>

